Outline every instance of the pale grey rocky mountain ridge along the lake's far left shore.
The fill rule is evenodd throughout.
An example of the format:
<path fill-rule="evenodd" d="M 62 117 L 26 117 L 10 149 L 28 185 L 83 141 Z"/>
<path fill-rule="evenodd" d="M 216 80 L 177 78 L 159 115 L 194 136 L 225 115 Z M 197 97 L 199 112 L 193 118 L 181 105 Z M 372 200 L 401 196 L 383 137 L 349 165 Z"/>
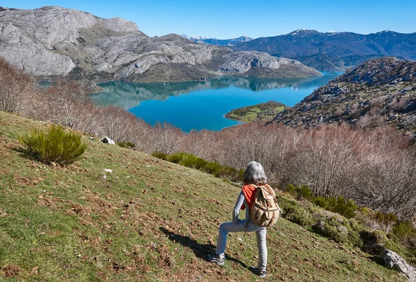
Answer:
<path fill-rule="evenodd" d="M 36 76 L 180 81 L 229 74 L 228 66 L 238 76 L 320 76 L 293 60 L 256 51 L 231 56 L 229 48 L 175 34 L 150 38 L 131 21 L 56 6 L 1 8 L 0 27 L 0 56 Z"/>

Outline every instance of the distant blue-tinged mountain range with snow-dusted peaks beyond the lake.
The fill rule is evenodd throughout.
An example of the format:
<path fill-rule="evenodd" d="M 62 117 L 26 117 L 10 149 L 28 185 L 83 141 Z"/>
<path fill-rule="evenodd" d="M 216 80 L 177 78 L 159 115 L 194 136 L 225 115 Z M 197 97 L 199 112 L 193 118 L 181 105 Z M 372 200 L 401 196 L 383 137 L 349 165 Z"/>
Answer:
<path fill-rule="evenodd" d="M 299 60 L 320 71 L 345 70 L 365 60 L 385 56 L 416 60 L 416 33 L 384 30 L 361 35 L 298 29 L 286 35 L 260 37 L 231 48 Z"/>

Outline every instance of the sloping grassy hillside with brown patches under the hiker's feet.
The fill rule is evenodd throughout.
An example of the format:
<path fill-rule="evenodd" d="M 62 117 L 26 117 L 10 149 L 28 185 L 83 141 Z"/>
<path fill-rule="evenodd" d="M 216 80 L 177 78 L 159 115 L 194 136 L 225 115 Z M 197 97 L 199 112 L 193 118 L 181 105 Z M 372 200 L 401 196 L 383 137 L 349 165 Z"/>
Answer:
<path fill-rule="evenodd" d="M 204 259 L 239 186 L 87 138 L 76 164 L 45 166 L 17 141 L 43 126 L 0 112 L 0 281 L 257 280 L 254 234 L 229 236 L 225 267 Z M 284 219 L 268 250 L 270 281 L 406 281 Z"/>

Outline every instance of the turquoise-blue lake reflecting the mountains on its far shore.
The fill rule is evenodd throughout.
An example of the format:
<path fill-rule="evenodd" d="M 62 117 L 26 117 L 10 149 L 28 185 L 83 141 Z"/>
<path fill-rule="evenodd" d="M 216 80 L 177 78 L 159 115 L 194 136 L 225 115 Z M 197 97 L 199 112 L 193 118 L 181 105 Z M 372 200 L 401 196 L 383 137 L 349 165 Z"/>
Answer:
<path fill-rule="evenodd" d="M 154 125 L 171 123 L 185 132 L 221 130 L 239 124 L 225 118 L 232 109 L 275 100 L 288 106 L 299 103 L 313 90 L 342 72 L 315 78 L 212 78 L 206 82 L 99 84 L 103 92 L 92 98 L 100 105 L 119 105 Z"/>

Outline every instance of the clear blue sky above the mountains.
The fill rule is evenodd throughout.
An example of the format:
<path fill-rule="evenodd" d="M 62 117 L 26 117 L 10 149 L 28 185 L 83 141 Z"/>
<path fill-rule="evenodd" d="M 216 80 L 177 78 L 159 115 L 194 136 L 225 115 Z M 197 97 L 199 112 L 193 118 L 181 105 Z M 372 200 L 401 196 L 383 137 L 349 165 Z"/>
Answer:
<path fill-rule="evenodd" d="M 168 33 L 219 39 L 320 32 L 416 32 L 416 0 L 1 0 L 8 8 L 61 6 L 134 21 L 149 36 Z"/>

